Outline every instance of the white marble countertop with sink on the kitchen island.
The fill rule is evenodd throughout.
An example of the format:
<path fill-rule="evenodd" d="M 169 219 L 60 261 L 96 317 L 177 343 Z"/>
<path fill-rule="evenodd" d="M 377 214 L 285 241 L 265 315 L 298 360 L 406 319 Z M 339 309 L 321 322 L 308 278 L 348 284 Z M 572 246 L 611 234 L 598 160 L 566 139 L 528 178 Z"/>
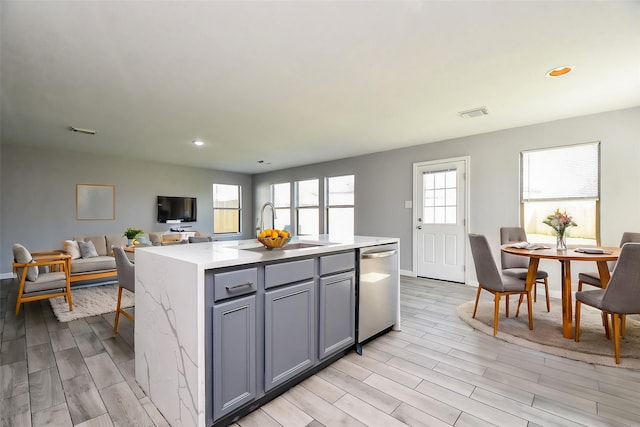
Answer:
<path fill-rule="evenodd" d="M 192 263 L 200 269 L 206 270 L 397 242 L 399 242 L 399 239 L 395 237 L 344 237 L 322 234 L 317 236 L 296 236 L 293 237 L 284 248 L 272 250 L 264 248 L 257 239 L 248 239 L 189 243 L 184 245 L 150 246 L 136 248 L 136 252 L 148 251 L 174 260 Z M 317 244 L 317 246 L 292 249 L 297 243 Z"/>

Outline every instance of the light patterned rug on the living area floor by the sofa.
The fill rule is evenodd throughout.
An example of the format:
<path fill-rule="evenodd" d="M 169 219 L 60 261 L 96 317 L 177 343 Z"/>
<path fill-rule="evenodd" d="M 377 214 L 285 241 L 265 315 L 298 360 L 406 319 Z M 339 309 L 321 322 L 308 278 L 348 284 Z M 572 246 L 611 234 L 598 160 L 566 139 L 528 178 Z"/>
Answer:
<path fill-rule="evenodd" d="M 53 314 L 60 322 L 98 316 L 116 311 L 118 302 L 118 285 L 101 285 L 90 288 L 71 289 L 73 310 L 69 311 L 69 304 L 64 297 L 51 298 Z M 121 307 L 129 308 L 135 304 L 135 295 L 124 289 L 122 291 Z"/>

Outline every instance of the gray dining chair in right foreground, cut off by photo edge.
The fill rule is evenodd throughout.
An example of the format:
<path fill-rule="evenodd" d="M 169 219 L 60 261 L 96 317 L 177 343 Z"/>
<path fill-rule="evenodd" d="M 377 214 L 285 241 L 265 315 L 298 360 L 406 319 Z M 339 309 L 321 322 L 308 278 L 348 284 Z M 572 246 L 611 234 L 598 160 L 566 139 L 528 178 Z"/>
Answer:
<path fill-rule="evenodd" d="M 620 363 L 622 316 L 640 314 L 640 243 L 625 243 L 605 289 L 576 292 L 575 340 L 580 341 L 580 308 L 582 304 L 602 310 L 613 317 L 613 350 Z"/>

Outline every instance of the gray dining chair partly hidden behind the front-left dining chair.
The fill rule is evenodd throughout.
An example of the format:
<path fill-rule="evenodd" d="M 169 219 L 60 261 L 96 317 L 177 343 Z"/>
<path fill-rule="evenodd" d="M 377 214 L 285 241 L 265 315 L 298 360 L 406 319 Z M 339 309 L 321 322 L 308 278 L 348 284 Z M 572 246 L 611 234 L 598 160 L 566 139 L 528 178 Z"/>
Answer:
<path fill-rule="evenodd" d="M 506 245 L 508 243 L 526 242 L 527 232 L 522 227 L 501 227 L 500 228 L 500 244 Z M 502 252 L 500 254 L 500 264 L 502 266 L 502 273 L 507 276 L 513 276 L 518 279 L 527 278 L 527 271 L 529 270 L 529 259 L 527 257 L 508 254 Z M 538 301 L 538 283 L 544 285 L 544 294 L 547 301 L 547 311 L 551 311 L 551 303 L 549 302 L 549 274 L 544 270 L 538 270 L 536 274 L 536 281 L 533 284 L 533 302 Z M 518 301 L 518 312 L 520 310 L 520 304 L 522 298 Z"/>

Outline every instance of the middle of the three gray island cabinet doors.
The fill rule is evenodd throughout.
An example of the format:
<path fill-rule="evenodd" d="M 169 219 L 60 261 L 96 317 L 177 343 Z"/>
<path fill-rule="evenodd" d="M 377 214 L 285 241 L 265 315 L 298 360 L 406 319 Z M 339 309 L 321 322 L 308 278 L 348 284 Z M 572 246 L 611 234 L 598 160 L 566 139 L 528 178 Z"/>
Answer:
<path fill-rule="evenodd" d="M 314 281 L 265 293 L 265 390 L 315 363 Z"/>

